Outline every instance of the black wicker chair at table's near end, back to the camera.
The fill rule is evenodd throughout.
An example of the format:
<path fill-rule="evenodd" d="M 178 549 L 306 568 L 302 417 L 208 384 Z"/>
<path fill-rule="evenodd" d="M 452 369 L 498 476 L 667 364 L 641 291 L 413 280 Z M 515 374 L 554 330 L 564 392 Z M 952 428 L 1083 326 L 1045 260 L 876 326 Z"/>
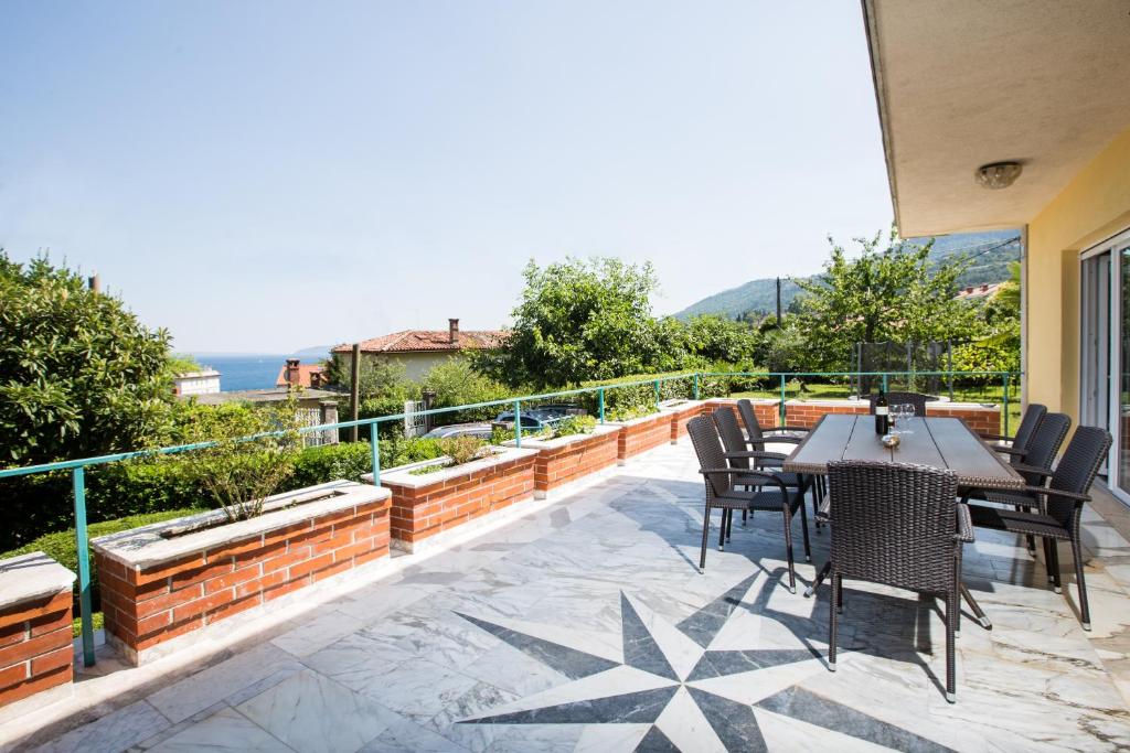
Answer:
<path fill-rule="evenodd" d="M 836 668 L 843 579 L 906 588 L 946 599 L 946 700 L 955 700 L 960 619 L 962 545 L 973 541 L 968 511 L 957 504 L 957 474 L 906 463 L 828 463 L 832 528 L 828 668 Z M 831 507 L 831 509 L 828 509 Z"/>

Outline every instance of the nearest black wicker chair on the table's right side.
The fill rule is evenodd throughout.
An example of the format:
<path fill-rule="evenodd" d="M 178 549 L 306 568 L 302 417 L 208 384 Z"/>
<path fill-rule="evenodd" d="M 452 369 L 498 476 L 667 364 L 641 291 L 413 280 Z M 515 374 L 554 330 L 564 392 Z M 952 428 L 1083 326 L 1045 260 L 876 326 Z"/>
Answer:
<path fill-rule="evenodd" d="M 1044 421 L 1048 419 L 1045 418 Z M 1063 457 L 1051 475 L 1048 487 L 1025 488 L 1036 500 L 1036 509 L 1010 510 L 1000 507 L 970 505 L 973 525 L 994 531 L 1008 531 L 1022 535 L 1040 536 L 1049 542 L 1051 550 L 1052 584 L 1060 589 L 1058 542 L 1071 543 L 1075 559 L 1075 579 L 1079 586 L 1079 622 L 1084 630 L 1090 630 L 1090 607 L 1087 603 L 1087 583 L 1083 569 L 1083 542 L 1079 539 L 1079 523 L 1083 504 L 1090 500 L 1090 484 L 1095 481 L 1103 458 L 1111 448 L 1111 435 L 1096 427 L 1079 427 L 1063 450 Z M 1034 472 L 1034 471 L 1033 471 Z M 966 498 L 971 494 L 967 493 Z M 1011 504 L 1011 500 L 1010 502 Z"/>

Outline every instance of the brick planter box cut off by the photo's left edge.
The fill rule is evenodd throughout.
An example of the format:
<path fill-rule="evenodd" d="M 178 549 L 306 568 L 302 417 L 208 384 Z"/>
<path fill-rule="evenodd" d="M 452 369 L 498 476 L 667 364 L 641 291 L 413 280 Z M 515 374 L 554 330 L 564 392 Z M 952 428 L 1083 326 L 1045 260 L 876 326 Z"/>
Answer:
<path fill-rule="evenodd" d="M 36 697 L 9 709 L 26 712 L 70 694 L 73 583 L 43 552 L 0 561 L 0 707 Z"/>

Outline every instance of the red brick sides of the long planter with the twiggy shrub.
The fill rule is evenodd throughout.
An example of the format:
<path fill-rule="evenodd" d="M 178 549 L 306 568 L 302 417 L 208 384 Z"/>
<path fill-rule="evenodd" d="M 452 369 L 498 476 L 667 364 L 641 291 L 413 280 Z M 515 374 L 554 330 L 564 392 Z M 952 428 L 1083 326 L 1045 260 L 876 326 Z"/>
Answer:
<path fill-rule="evenodd" d="M 144 570 L 95 552 L 106 631 L 140 651 L 389 553 L 389 500 Z"/>

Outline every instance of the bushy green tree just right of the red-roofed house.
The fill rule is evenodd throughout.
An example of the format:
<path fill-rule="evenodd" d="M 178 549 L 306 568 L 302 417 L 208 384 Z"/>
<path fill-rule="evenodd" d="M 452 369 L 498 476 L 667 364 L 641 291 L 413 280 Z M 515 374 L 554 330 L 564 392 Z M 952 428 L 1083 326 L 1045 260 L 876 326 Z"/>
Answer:
<path fill-rule="evenodd" d="M 651 264 L 592 259 L 531 261 L 505 347 L 476 365 L 508 385 L 577 385 L 638 374 L 653 360 L 655 319 Z"/>

